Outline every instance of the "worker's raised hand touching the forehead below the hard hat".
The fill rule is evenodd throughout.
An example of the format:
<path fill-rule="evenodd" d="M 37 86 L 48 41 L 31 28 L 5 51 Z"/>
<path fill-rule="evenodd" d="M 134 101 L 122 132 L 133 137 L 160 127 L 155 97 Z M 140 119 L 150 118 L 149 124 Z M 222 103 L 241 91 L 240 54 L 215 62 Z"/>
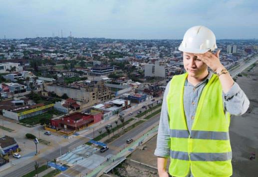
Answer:
<path fill-rule="evenodd" d="M 212 52 L 207 51 L 206 53 L 199 53 L 195 55 L 198 57 L 198 59 L 201 59 L 205 64 L 207 64 L 214 72 L 217 72 L 219 69 L 221 70 L 224 68 L 220 61 L 220 52 L 221 50 L 218 50 L 215 54 L 213 54 Z"/>

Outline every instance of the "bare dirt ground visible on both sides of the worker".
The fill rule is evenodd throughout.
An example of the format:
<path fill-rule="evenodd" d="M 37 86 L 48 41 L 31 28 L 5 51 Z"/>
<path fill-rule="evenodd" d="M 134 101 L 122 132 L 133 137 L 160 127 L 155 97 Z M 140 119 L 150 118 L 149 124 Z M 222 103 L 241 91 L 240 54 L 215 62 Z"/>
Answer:
<path fill-rule="evenodd" d="M 233 176 L 258 176 L 258 63 L 253 69 L 242 72 L 237 82 L 250 99 L 250 108 L 241 116 L 231 117 L 230 138 L 233 151 Z M 148 141 L 145 150 L 137 149 L 128 159 L 115 169 L 112 176 L 158 176 L 157 158 L 154 156 L 157 136 Z M 250 160 L 251 152 L 257 153 L 255 160 Z M 131 161 L 136 160 L 141 163 Z"/>

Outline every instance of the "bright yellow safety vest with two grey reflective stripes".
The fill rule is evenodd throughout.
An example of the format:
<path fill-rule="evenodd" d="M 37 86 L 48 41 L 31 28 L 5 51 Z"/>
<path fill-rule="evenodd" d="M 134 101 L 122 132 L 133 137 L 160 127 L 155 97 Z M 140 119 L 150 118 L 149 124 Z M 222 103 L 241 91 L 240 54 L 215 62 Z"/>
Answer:
<path fill-rule="evenodd" d="M 172 78 L 167 96 L 172 176 L 231 176 L 230 113 L 224 113 L 222 86 L 213 74 L 204 87 L 189 132 L 184 112 L 184 85 L 188 73 Z"/>

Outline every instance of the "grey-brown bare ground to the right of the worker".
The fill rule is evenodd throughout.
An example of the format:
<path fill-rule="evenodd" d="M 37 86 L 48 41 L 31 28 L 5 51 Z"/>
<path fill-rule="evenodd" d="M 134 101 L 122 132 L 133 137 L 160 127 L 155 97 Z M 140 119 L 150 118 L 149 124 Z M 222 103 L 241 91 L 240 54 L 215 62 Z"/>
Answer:
<path fill-rule="evenodd" d="M 231 118 L 233 176 L 258 175 L 258 157 L 249 159 L 251 152 L 258 153 L 258 63 L 247 70 L 242 72 L 243 76 L 237 77 L 237 82 L 250 99 L 250 107 L 242 116 Z"/>

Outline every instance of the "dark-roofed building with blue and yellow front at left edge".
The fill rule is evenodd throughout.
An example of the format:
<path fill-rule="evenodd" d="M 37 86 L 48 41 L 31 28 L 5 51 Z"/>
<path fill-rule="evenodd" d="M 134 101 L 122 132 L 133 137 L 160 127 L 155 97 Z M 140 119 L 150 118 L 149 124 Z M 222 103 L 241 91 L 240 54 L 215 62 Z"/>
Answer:
<path fill-rule="evenodd" d="M 0 138 L 0 153 L 1 157 L 17 152 L 19 148 L 18 143 L 14 137 L 3 136 Z"/>

